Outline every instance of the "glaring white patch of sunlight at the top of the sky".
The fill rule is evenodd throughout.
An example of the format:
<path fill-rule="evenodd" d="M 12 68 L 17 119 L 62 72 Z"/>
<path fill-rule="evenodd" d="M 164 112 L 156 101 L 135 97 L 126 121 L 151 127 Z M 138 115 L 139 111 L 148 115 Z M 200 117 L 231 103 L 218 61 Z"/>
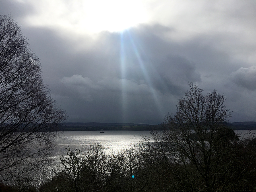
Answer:
<path fill-rule="evenodd" d="M 59 27 L 78 34 L 122 31 L 147 20 L 142 0 L 24 1 L 36 9 L 36 14 L 27 18 L 30 24 Z"/>

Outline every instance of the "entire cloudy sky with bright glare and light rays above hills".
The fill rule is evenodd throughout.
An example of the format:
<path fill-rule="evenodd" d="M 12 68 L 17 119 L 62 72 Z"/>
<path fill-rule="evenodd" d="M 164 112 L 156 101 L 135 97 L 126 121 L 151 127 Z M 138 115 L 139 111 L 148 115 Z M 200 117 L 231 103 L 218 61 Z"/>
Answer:
<path fill-rule="evenodd" d="M 256 121 L 255 0 L 0 0 L 40 59 L 67 122 L 160 124 L 216 89 Z"/>

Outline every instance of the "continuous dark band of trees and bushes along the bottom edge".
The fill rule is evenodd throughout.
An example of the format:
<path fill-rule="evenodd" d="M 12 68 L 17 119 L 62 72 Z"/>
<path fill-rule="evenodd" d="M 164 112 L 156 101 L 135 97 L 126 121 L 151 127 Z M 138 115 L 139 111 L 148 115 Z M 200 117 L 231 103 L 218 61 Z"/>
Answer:
<path fill-rule="evenodd" d="M 39 186 L 33 185 L 32 179 L 24 179 L 19 186 L 0 185 L 0 191 L 255 191 L 255 139 L 238 139 L 233 130 L 223 127 L 214 136 L 214 150 L 206 167 L 206 157 L 199 147 L 193 148 L 194 160 L 181 154 L 184 149 L 174 156 L 171 143 L 158 138 L 166 133 L 151 133 L 151 140 L 145 138 L 138 146 L 112 154 L 106 154 L 100 143 L 86 152 L 67 147 L 61 153 L 59 166 L 52 170 L 53 177 Z M 190 135 L 190 141 L 196 140 L 198 137 Z M 208 179 L 203 170 L 207 170 Z"/>

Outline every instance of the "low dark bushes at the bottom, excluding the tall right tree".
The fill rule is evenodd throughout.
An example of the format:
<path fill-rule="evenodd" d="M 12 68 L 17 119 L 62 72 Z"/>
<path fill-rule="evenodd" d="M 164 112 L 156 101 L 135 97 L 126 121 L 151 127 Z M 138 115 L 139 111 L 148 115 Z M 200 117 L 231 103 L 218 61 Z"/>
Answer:
<path fill-rule="evenodd" d="M 212 191 L 253 191 L 256 187 L 256 145 L 249 139 L 233 141 L 225 138 L 216 149 L 221 151 L 226 144 L 229 146 L 218 157 L 221 161 L 214 162 L 211 174 L 216 176 L 210 182 L 216 184 Z M 55 176 L 38 191 L 207 191 L 204 178 L 193 164 L 183 164 L 181 160 L 176 164 L 164 158 L 161 150 L 154 154 L 157 157 L 149 156 L 146 143 L 116 154 L 106 154 L 99 143 L 90 146 L 86 153 L 67 148 Z"/>

